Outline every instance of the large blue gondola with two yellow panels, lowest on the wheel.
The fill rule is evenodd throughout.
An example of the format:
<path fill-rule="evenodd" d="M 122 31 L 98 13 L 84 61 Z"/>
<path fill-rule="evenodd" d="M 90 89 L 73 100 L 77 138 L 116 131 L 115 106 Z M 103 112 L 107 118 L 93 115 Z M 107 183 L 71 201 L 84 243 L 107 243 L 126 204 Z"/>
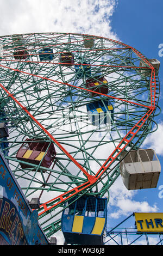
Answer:
<path fill-rule="evenodd" d="M 69 200 L 69 204 L 74 199 Z M 81 197 L 64 210 L 61 218 L 65 241 L 72 245 L 103 245 L 107 198 Z"/>

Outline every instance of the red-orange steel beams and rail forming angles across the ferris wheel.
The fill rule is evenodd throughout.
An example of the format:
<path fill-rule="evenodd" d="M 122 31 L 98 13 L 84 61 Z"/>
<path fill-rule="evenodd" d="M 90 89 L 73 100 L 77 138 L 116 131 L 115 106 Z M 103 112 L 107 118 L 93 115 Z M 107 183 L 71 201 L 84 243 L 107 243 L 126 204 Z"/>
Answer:
<path fill-rule="evenodd" d="M 105 39 L 105 38 L 104 38 Z M 108 40 L 108 39 L 107 39 Z M 122 42 L 118 42 L 118 41 L 115 41 L 115 40 L 111 40 L 109 39 L 110 41 L 112 42 L 116 42 L 117 44 L 120 44 L 120 45 L 123 45 L 125 46 L 126 48 L 131 48 L 131 50 L 133 50 L 135 52 L 135 54 L 137 56 L 139 56 L 146 64 L 147 66 L 149 67 L 148 69 L 151 69 L 151 81 L 150 81 L 150 88 L 151 88 L 151 106 L 145 106 L 145 105 L 142 105 L 140 103 L 137 103 L 137 102 L 132 102 L 132 101 L 127 101 L 127 100 L 124 100 L 124 99 L 121 99 L 121 98 L 118 98 L 118 97 L 113 97 L 113 96 L 110 96 L 110 95 L 105 95 L 105 94 L 102 94 L 102 93 L 98 93 L 98 92 L 95 92 L 95 91 L 92 91 L 92 90 L 89 90 L 89 89 L 85 89 L 85 88 L 80 88 L 80 87 L 77 87 L 77 86 L 72 86 L 71 84 L 68 84 L 68 83 L 63 83 L 63 82 L 59 82 L 59 81 L 54 81 L 52 80 L 51 78 L 47 78 L 47 77 L 41 77 L 41 76 L 38 76 L 38 75 L 34 75 L 34 74 L 30 74 L 28 72 L 24 72 L 24 71 L 21 71 L 21 70 L 18 70 L 18 69 L 12 69 L 12 68 L 9 68 L 7 66 L 3 66 L 1 65 L 3 68 L 8 68 L 8 69 L 12 69 L 14 71 L 17 71 L 17 72 L 22 72 L 24 74 L 28 74 L 28 75 L 32 75 L 32 76 L 37 76 L 39 78 L 42 78 L 42 79 L 46 79 L 46 80 L 49 80 L 49 81 L 53 81 L 53 82 L 57 82 L 57 83 L 61 83 L 61 84 L 66 84 L 67 86 L 71 86 L 71 87 L 75 87 L 75 88 L 78 88 L 78 89 L 83 89 L 83 90 L 86 90 L 88 92 L 93 92 L 93 93 L 97 93 L 97 94 L 100 94 L 100 95 L 104 95 L 104 96 L 108 96 L 108 97 L 112 97 L 114 99 L 117 99 L 117 100 L 121 100 L 121 101 L 124 101 L 124 102 L 128 102 L 130 104 L 134 104 L 134 105 L 139 105 L 141 107 L 146 107 L 147 108 L 147 113 L 139 120 L 137 121 L 136 125 L 134 125 L 134 127 L 127 133 L 127 135 L 122 139 L 122 141 L 117 145 L 117 147 L 115 148 L 115 150 L 111 153 L 111 155 L 108 157 L 108 159 L 104 162 L 104 164 L 101 166 L 101 168 L 98 170 L 98 172 L 96 173 L 95 176 L 92 176 L 90 174 L 88 174 L 86 172 L 86 170 L 67 152 L 67 150 L 62 147 L 62 145 L 51 135 L 51 133 L 49 133 L 45 127 L 43 127 L 39 121 L 37 121 L 32 114 L 30 114 L 30 112 L 27 110 L 26 107 L 24 107 L 19 101 L 17 101 L 17 99 L 14 97 L 13 94 L 11 94 L 10 92 L 8 92 L 7 89 L 5 89 L 5 87 L 0 84 L 0 87 L 8 94 L 8 96 L 10 96 L 16 103 L 18 106 L 20 106 L 24 112 L 26 112 L 30 118 L 32 118 L 34 120 L 34 122 L 39 125 L 39 127 L 52 139 L 52 141 L 58 145 L 58 147 L 67 155 L 68 158 L 71 159 L 71 161 L 76 164 L 76 166 L 82 170 L 82 172 L 87 176 L 87 181 L 82 184 L 82 185 L 79 185 L 75 188 L 73 188 L 72 190 L 69 190 L 65 193 L 62 193 L 60 196 L 58 197 L 55 197 L 51 200 L 48 200 L 48 202 L 46 203 L 43 203 L 41 206 L 40 206 L 40 212 L 39 212 L 39 216 L 41 216 L 42 214 L 44 214 L 45 212 L 53 209 L 55 206 L 63 203 L 65 200 L 73 197 L 75 194 L 78 194 L 80 191 L 83 191 L 85 190 L 86 188 L 89 188 L 91 185 L 95 184 L 97 180 L 99 180 L 99 178 L 101 178 L 101 176 L 106 172 L 106 170 L 109 168 L 109 166 L 111 166 L 112 162 L 114 162 L 118 155 L 121 154 L 122 150 L 124 148 L 126 148 L 129 144 L 129 142 L 135 137 L 136 133 L 139 132 L 139 130 L 141 129 L 141 127 L 143 126 L 143 124 L 145 124 L 146 120 L 149 118 L 149 116 L 153 113 L 154 109 L 155 109 L 155 90 L 156 90 L 156 82 L 155 82 L 155 70 L 154 70 L 154 67 L 148 62 L 147 59 L 145 59 L 145 57 L 142 56 L 142 54 L 135 50 L 135 48 L 133 47 L 130 47 L 126 44 L 123 44 Z M 108 49 L 105 49 L 105 50 L 108 50 Z M 22 62 L 22 60 L 20 60 Z M 29 60 L 28 61 L 24 61 L 23 62 L 30 62 Z M 59 63 L 58 63 L 59 64 Z M 74 64 L 73 64 L 74 65 Z M 107 66 L 107 65 L 106 65 Z M 111 67 L 111 66 L 110 66 Z M 133 68 L 133 67 L 129 67 L 129 66 L 117 66 L 117 67 L 121 67 L 121 68 Z M 140 68 L 140 67 L 134 67 L 134 68 Z M 51 206 L 48 206 L 49 203 L 53 203 L 53 205 Z"/>

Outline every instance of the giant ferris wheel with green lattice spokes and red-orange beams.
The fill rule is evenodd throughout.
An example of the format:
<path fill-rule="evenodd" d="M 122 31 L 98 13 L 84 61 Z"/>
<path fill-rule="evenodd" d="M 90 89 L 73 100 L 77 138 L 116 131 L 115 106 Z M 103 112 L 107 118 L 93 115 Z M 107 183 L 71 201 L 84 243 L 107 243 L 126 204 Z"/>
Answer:
<path fill-rule="evenodd" d="M 26 198 L 40 202 L 47 237 L 68 204 L 109 202 L 120 174 L 128 189 L 144 188 L 129 184 L 122 163 L 129 153 L 158 161 L 140 150 L 158 114 L 158 61 L 85 34 L 7 35 L 0 44 L 1 150 Z M 154 175 L 146 187 L 156 186 Z"/>

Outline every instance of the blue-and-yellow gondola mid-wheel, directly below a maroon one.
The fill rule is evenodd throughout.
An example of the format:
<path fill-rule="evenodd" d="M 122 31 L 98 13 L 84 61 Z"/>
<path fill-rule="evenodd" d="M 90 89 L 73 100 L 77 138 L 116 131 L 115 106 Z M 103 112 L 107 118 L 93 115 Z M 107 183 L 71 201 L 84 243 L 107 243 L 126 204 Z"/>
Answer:
<path fill-rule="evenodd" d="M 108 100 L 91 102 L 86 105 L 86 110 L 92 125 L 102 126 L 114 121 L 114 107 Z"/>

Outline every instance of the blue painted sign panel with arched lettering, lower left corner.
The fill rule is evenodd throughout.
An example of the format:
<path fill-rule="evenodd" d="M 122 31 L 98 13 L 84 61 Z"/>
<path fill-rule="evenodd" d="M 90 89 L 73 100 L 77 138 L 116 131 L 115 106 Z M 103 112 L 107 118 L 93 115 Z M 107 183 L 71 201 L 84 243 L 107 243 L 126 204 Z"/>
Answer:
<path fill-rule="evenodd" d="M 37 211 L 30 208 L 1 152 L 0 184 L 0 245 L 48 245 Z"/>

